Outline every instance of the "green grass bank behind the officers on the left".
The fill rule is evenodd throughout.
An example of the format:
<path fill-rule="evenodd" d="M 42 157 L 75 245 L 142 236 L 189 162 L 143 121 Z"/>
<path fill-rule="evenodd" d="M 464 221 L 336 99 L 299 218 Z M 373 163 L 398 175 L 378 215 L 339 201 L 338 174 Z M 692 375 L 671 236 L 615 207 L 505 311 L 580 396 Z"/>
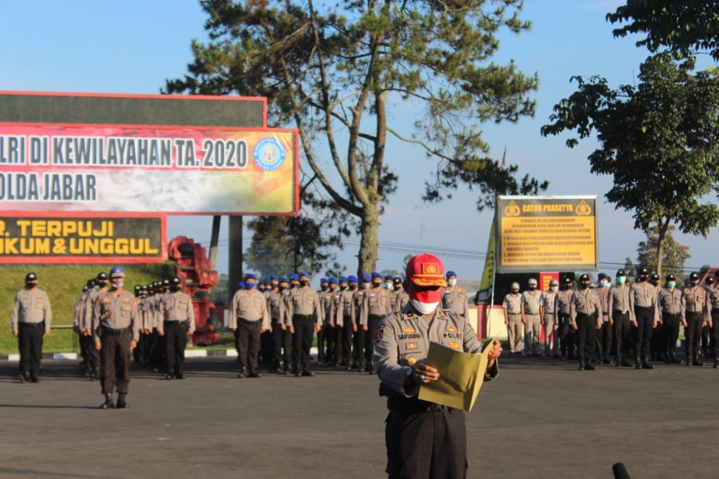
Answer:
<path fill-rule="evenodd" d="M 72 325 L 75 301 L 82 293 L 83 286 L 90 278 L 101 271 L 109 272 L 112 265 L 6 265 L 0 267 L 2 283 L 0 285 L 0 311 L 6 314 L 5 327 L 0 328 L 0 354 L 12 354 L 18 351 L 17 339 L 12 335 L 9 316 L 15 293 L 23 288 L 25 275 L 37 274 L 38 287 L 47 293 L 52 308 L 52 325 Z M 174 275 L 173 263 L 159 265 L 127 265 L 125 287 L 128 291 L 136 284 L 147 284 L 154 280 L 171 278 Z M 73 351 L 72 329 L 53 329 L 50 337 L 45 338 L 43 352 Z M 78 351 L 75 347 L 75 351 Z"/>

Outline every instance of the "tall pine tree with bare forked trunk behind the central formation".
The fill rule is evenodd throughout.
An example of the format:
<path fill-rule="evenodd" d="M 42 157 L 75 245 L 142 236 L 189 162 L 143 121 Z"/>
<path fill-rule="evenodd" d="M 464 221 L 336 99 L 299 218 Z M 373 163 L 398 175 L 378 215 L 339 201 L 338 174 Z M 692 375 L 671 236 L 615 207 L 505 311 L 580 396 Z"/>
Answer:
<path fill-rule="evenodd" d="M 210 41 L 193 41 L 188 75 L 168 93 L 265 96 L 268 122 L 296 126 L 324 193 L 359 220 L 359 271 L 375 269 L 380 214 L 396 188 L 391 139 L 436 159 L 425 199 L 465 182 L 477 206 L 546 188 L 489 158 L 484 122 L 533 115 L 536 75 L 498 65 L 503 28 L 530 27 L 523 0 L 202 0 Z M 413 111 L 416 122 L 395 118 Z M 275 220 L 279 221 L 279 220 Z"/>

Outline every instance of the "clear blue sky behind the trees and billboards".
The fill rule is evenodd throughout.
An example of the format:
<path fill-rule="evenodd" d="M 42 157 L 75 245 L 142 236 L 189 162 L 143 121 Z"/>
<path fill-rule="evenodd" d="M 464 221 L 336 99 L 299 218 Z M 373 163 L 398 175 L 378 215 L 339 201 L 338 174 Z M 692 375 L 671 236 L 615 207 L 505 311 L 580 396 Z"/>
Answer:
<path fill-rule="evenodd" d="M 622 4 L 616 0 L 528 0 L 523 18 L 530 32 L 503 34 L 496 61 L 514 59 L 526 73 L 539 73 L 537 110 L 518 124 L 487 124 L 483 136 L 500 157 L 507 147 L 508 163 L 550 181 L 548 194 L 600 196 L 599 245 L 603 263 L 622 263 L 636 257 L 644 234 L 633 229 L 631 214 L 603 202 L 610 178 L 589 172 L 587 155 L 597 146 L 585 140 L 573 150 L 566 136 L 539 134 L 549 122 L 551 107 L 572 91 L 573 75 L 605 76 L 613 86 L 632 83 L 647 52 L 634 46 L 636 38 L 614 39 L 605 14 Z M 203 40 L 205 17 L 196 0 L 35 0 L 0 2 L 0 89 L 109 93 L 157 93 L 165 78 L 177 78 L 191 61 L 190 42 Z M 397 106 L 398 123 L 413 112 Z M 388 161 L 400 175 L 382 217 L 377 268 L 398 269 L 407 251 L 391 243 L 446 247 L 470 253 L 445 255 L 446 267 L 464 278 L 478 278 L 485 252 L 491 213 L 478 213 L 476 196 L 462 189 L 451 201 L 422 204 L 423 183 L 432 163 L 423 153 L 398 141 L 388 145 Z M 210 217 L 170 217 L 170 237 L 183 234 L 209 242 Z M 226 219 L 221 237 L 226 238 Z M 690 247 L 689 267 L 715 263 L 713 229 L 705 239 L 677 235 Z M 222 239 L 221 238 L 221 239 Z M 226 242 L 225 242 L 226 244 Z M 357 239 L 348 242 L 339 260 L 354 271 Z M 473 253 L 473 254 L 472 254 Z M 226 271 L 227 249 L 219 250 L 217 269 Z M 613 268 L 603 268 L 611 272 Z"/>

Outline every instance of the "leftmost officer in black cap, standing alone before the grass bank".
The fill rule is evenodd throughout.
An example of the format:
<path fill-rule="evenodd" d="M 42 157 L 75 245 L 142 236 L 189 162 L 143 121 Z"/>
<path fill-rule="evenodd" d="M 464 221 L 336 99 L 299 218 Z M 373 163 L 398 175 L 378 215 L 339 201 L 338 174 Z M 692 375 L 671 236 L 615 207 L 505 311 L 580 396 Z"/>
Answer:
<path fill-rule="evenodd" d="M 40 380 L 42 338 L 50 336 L 52 310 L 45 291 L 37 287 L 37 275 L 25 275 L 25 288 L 15 294 L 10 325 L 20 350 L 20 382 Z"/>

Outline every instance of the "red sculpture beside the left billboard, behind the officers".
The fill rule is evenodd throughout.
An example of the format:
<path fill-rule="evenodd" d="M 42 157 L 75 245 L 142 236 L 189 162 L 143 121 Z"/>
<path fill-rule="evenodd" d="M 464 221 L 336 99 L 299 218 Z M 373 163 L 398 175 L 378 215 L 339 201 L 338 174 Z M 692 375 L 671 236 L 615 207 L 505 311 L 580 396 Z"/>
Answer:
<path fill-rule="evenodd" d="M 210 301 L 210 288 L 217 284 L 217 271 L 207 258 L 205 248 L 193 239 L 178 236 L 170 241 L 168 257 L 175 262 L 175 275 L 183 282 L 183 291 L 192 298 L 195 309 L 195 334 L 192 345 L 214 345 L 222 327 L 222 313 Z"/>

